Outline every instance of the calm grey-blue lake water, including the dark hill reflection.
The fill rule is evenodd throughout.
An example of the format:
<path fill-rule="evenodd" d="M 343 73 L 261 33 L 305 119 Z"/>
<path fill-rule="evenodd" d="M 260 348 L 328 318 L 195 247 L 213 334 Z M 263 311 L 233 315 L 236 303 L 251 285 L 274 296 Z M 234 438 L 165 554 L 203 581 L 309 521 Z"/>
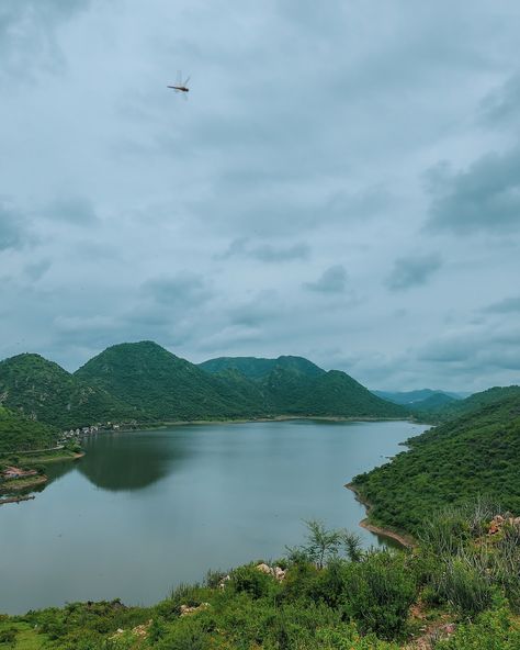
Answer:
<path fill-rule="evenodd" d="M 425 428 L 291 421 L 100 434 L 83 459 L 52 467 L 34 501 L 0 507 L 0 612 L 156 603 L 210 568 L 282 556 L 303 541 L 304 518 L 378 543 L 343 485 Z"/>

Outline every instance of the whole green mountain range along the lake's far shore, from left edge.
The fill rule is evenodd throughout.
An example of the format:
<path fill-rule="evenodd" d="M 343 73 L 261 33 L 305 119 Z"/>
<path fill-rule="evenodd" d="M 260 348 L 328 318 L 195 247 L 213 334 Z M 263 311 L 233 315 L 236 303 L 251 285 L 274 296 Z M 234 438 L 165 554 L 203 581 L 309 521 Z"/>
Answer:
<path fill-rule="evenodd" d="M 95 423 L 275 416 L 405 418 L 338 370 L 301 357 L 212 359 L 200 366 L 152 341 L 105 349 L 75 373 L 34 354 L 0 362 L 0 405 L 60 428 Z"/>

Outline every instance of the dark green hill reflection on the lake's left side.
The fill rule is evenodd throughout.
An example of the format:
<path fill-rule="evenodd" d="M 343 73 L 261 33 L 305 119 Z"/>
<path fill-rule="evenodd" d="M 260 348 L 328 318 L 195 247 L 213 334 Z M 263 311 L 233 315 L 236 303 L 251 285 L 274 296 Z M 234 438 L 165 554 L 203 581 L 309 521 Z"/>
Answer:
<path fill-rule="evenodd" d="M 101 434 L 84 444 L 78 470 L 103 490 L 142 490 L 167 475 L 186 455 L 182 440 L 162 433 Z"/>

